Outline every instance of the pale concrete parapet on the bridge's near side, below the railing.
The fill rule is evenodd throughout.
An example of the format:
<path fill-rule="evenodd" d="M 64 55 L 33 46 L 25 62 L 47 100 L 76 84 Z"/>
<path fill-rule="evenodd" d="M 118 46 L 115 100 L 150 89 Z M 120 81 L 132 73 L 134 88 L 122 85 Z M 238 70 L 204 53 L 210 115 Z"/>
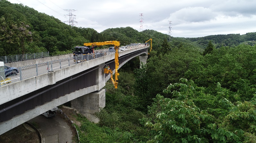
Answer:
<path fill-rule="evenodd" d="M 48 85 L 53 85 L 57 81 L 68 78 L 84 70 L 93 68 L 97 65 L 102 65 L 106 60 L 113 59 L 115 55 L 103 56 L 97 59 L 86 61 L 83 63 L 75 64 L 63 69 L 58 69 L 53 72 L 48 72 L 41 74 L 39 76 L 31 77 L 29 79 L 24 79 L 22 81 L 17 81 L 14 83 L 9 83 L 0 87 L 0 105 L 21 97 L 25 94 L 31 93 L 37 89 L 46 87 Z M 104 72 L 103 72 L 104 73 Z M 102 73 L 102 75 L 104 75 Z M 97 73 L 96 73 L 97 74 Z M 100 75 L 101 73 L 98 73 Z M 104 81 L 104 80 L 103 80 Z M 99 81 L 98 81 L 99 82 Z M 105 84 L 105 83 L 104 83 Z M 104 87 L 103 83 L 98 87 Z"/>

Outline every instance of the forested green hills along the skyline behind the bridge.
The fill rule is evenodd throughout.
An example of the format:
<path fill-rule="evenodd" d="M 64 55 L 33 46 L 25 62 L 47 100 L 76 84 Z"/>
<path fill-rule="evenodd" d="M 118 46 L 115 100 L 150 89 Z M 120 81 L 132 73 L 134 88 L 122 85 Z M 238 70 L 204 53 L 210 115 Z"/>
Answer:
<path fill-rule="evenodd" d="M 92 28 L 71 27 L 59 19 L 40 13 L 22 4 L 0 0 L 0 56 L 49 51 L 50 55 L 72 52 L 73 47 L 84 42 L 120 41 L 121 45 L 153 39 L 153 50 L 161 50 L 169 35 L 154 30 L 138 32 L 131 27 L 109 28 L 98 33 Z M 240 43 L 253 45 L 256 33 L 245 35 L 211 35 L 200 38 L 174 38 L 169 45 L 181 43 L 205 48 L 209 41 L 219 48 Z M 254 41 L 253 41 L 254 40 Z"/>

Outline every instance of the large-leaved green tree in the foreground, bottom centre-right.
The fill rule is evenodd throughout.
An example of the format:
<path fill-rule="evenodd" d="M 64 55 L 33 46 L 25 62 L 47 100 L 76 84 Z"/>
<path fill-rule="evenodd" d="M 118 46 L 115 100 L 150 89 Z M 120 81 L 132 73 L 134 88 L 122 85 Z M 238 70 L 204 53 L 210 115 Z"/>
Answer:
<path fill-rule="evenodd" d="M 187 99 L 187 95 L 194 88 L 184 84 L 187 79 L 180 81 L 183 83 L 170 84 L 163 90 L 163 93 L 172 93 L 176 98 L 163 98 L 158 94 L 153 105 L 149 107 L 149 117 L 141 120 L 154 135 L 154 139 L 148 143 L 240 142 L 236 134 L 218 127 L 213 116 L 206 110 L 200 111 Z"/>

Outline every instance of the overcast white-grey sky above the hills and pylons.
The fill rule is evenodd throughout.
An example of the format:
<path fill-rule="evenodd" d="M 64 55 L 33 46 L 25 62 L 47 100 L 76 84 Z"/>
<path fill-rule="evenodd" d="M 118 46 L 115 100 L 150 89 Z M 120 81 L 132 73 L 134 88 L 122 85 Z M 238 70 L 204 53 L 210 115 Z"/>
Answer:
<path fill-rule="evenodd" d="M 102 32 L 130 26 L 173 37 L 204 37 L 256 32 L 256 0 L 8 0 Z M 142 14 L 141 14 L 142 13 Z M 142 15 L 142 17 L 141 17 Z M 170 26 L 170 21 L 172 21 Z M 68 24 L 68 22 L 65 22 Z M 142 27 L 141 27 L 142 25 Z"/>

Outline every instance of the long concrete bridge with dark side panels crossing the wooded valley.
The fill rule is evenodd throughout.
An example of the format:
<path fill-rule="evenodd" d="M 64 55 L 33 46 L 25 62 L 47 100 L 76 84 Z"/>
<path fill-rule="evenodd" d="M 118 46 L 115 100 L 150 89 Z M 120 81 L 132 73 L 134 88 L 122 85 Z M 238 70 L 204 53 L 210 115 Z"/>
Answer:
<path fill-rule="evenodd" d="M 144 55 L 140 56 L 140 61 L 146 62 L 148 47 L 128 47 L 129 50 L 119 52 L 119 68 L 140 55 Z M 73 60 L 73 54 L 68 56 Z M 56 58 L 58 56 L 6 65 L 16 64 L 21 67 L 28 63 L 51 61 Z M 110 79 L 110 74 L 104 74 L 102 66 L 109 65 L 114 73 L 114 58 L 115 55 L 110 54 L 78 64 L 68 64 L 69 66 L 57 70 L 51 69 L 40 75 L 37 71 L 36 76 L 2 85 L 0 87 L 0 135 L 69 101 L 72 108 L 77 109 L 90 121 L 97 123 L 98 119 L 94 113 L 99 111 L 100 107 L 105 107 L 105 89 L 102 88 Z"/>

